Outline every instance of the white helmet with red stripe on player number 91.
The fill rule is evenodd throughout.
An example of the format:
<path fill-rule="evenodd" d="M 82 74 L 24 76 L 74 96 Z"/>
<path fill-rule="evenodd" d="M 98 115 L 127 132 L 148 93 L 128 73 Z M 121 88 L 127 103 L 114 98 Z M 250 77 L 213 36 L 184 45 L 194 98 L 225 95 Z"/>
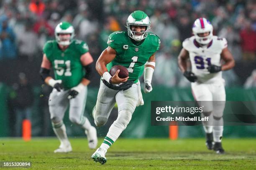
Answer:
<path fill-rule="evenodd" d="M 212 40 L 213 27 L 210 21 L 206 18 L 197 18 L 193 25 L 192 31 L 195 35 L 195 40 L 200 44 L 206 45 Z M 205 37 L 198 36 L 198 34 L 205 32 L 210 32 L 210 34 Z"/>

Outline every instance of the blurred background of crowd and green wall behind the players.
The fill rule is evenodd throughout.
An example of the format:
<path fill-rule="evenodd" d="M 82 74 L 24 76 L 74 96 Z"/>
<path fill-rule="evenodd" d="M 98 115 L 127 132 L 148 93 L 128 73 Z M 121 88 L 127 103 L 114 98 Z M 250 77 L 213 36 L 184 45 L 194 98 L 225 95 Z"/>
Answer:
<path fill-rule="evenodd" d="M 32 136 L 54 136 L 47 106 L 51 88 L 39 76 L 42 47 L 54 39 L 54 28 L 61 21 L 74 25 L 76 38 L 87 42 L 96 61 L 107 47 L 108 35 L 126 30 L 128 15 L 143 10 L 151 19 L 151 32 L 159 35 L 153 92 L 143 94 L 145 105 L 137 107 L 127 129 L 128 138 L 167 137 L 168 127 L 150 125 L 151 100 L 193 100 L 190 83 L 177 66 L 182 41 L 191 36 L 193 21 L 208 18 L 214 35 L 226 37 L 236 66 L 223 73 L 227 100 L 256 100 L 256 4 L 247 0 L 2 0 L 0 4 L 0 137 L 17 136 L 15 110 L 17 100 L 32 109 Z M 5 25 L 8 25 L 6 27 Z M 6 36 L 8 35 L 8 36 Z M 18 95 L 19 84 L 28 80 L 33 94 Z M 94 73 L 89 85 L 85 115 L 95 105 L 100 77 Z M 158 94 L 164 94 L 159 96 Z M 104 136 L 115 119 L 98 130 Z M 83 136 L 67 115 L 64 119 L 68 135 Z M 255 137 L 255 126 L 228 126 L 225 137 Z M 179 127 L 179 137 L 203 136 L 202 127 Z"/>

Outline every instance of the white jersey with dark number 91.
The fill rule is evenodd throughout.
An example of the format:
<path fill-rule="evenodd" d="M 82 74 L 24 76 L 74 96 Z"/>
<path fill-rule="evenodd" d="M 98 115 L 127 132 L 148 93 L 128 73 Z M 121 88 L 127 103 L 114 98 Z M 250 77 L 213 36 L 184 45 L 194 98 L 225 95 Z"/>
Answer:
<path fill-rule="evenodd" d="M 210 65 L 220 66 L 220 54 L 227 47 L 225 38 L 213 36 L 208 45 L 201 47 L 195 40 L 195 36 L 183 41 L 182 46 L 189 52 L 192 72 L 197 76 L 197 82 L 212 83 L 216 78 L 222 79 L 222 72 L 210 73 L 207 67 Z"/>

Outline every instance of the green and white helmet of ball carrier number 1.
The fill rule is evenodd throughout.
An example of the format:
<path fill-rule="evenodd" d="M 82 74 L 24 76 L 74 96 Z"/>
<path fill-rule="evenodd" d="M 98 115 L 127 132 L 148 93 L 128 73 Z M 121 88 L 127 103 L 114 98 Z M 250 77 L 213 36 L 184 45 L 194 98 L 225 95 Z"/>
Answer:
<path fill-rule="evenodd" d="M 141 33 L 141 35 L 136 35 L 136 31 L 131 30 L 132 25 L 143 25 L 146 26 L 146 30 Z M 126 21 L 126 28 L 128 29 L 128 36 L 131 37 L 133 40 L 141 41 L 148 36 L 148 30 L 150 29 L 150 20 L 148 15 L 143 11 L 137 10 L 129 15 Z"/>

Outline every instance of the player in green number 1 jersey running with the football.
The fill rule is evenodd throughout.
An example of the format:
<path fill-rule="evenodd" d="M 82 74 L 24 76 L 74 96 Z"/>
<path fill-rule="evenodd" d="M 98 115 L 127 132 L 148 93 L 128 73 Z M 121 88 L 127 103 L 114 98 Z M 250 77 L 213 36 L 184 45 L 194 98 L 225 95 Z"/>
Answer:
<path fill-rule="evenodd" d="M 151 92 L 151 80 L 155 67 L 155 53 L 159 50 L 159 37 L 151 32 L 150 20 L 143 11 L 134 11 L 127 19 L 128 31 L 110 34 L 108 47 L 96 62 L 96 70 L 102 76 L 97 103 L 92 115 L 97 126 L 108 121 L 115 102 L 118 105 L 118 117 L 110 126 L 107 136 L 91 158 L 104 164 L 105 154 L 131 120 L 136 106 L 143 105 L 141 87 L 138 78 L 144 71 L 145 93 Z M 108 66 L 107 66 L 108 65 Z M 123 65 L 129 76 L 118 77 L 118 70 L 113 77 L 108 70 L 111 66 Z"/>

